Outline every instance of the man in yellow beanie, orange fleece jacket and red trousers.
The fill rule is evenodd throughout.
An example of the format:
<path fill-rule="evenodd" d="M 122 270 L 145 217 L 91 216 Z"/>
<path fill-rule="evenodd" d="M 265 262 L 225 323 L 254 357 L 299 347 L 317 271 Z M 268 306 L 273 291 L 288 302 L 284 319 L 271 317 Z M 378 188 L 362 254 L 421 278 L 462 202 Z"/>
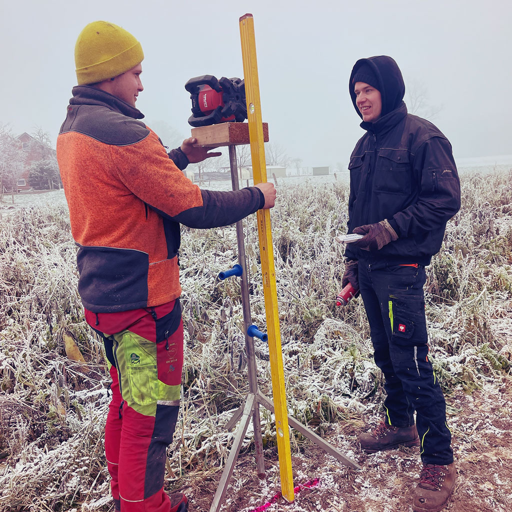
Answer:
<path fill-rule="evenodd" d="M 271 208 L 275 188 L 201 190 L 182 173 L 218 156 L 195 139 L 166 153 L 136 109 L 144 58 L 129 32 L 103 21 L 76 42 L 78 86 L 57 138 L 57 159 L 78 246 L 87 322 L 105 344 L 112 401 L 105 455 L 116 510 L 185 512 L 163 490 L 183 366 L 180 223 L 226 226 Z"/>

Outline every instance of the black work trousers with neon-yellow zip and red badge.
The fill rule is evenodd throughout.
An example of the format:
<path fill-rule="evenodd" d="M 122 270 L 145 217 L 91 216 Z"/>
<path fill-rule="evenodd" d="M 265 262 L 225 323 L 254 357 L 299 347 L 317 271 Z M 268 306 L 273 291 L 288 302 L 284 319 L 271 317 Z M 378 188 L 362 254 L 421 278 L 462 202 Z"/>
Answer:
<path fill-rule="evenodd" d="M 429 360 L 422 265 L 388 265 L 359 260 L 359 288 L 365 304 L 375 364 L 385 377 L 386 422 L 414 423 L 424 464 L 451 464 L 452 435 L 446 403 Z"/>

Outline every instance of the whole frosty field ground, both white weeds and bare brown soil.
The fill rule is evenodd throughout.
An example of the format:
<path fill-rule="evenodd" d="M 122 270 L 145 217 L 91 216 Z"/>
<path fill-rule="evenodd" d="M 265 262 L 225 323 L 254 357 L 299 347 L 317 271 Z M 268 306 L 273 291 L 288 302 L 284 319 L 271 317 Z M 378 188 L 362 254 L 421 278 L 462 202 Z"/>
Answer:
<path fill-rule="evenodd" d="M 458 468 L 451 512 L 512 507 L 512 176 L 509 166 L 496 167 L 461 173 L 463 207 L 425 286 Z M 417 449 L 365 455 L 356 441 L 379 421 L 383 389 L 361 301 L 333 301 L 344 270 L 334 237 L 346 227 L 347 185 L 341 176 L 278 179 L 278 198 L 272 226 L 288 409 L 363 469 L 349 470 L 292 431 L 294 484 L 319 484 L 267 510 L 412 510 Z M 83 321 L 63 193 L 15 196 L 14 204 L 6 197 L 0 222 L 0 510 L 113 510 L 102 447 L 109 381 Z M 264 326 L 254 219 L 244 226 L 251 312 Z M 182 240 L 187 348 L 165 485 L 187 494 L 190 510 L 207 511 L 236 433 L 224 425 L 248 391 L 239 285 L 217 279 L 237 262 L 236 234 L 184 228 Z M 87 364 L 67 357 L 66 336 Z M 262 344 L 257 355 L 260 389 L 271 396 Z M 256 476 L 250 426 L 223 511 L 251 512 L 280 490 L 275 423 L 265 410 L 262 430 L 266 478 Z"/>

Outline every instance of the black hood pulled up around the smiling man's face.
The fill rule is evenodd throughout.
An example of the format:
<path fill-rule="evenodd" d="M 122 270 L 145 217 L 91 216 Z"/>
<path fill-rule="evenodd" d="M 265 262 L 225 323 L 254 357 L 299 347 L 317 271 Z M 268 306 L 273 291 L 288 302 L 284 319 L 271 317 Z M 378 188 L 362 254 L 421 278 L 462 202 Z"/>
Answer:
<path fill-rule="evenodd" d="M 349 93 L 354 104 L 355 111 L 362 119 L 362 114 L 359 112 L 356 104 L 356 97 L 354 93 L 354 84 L 352 79 L 361 67 L 365 64 L 370 66 L 370 69 L 375 73 L 378 80 L 378 91 L 382 98 L 382 112 L 381 117 L 389 114 L 400 106 L 403 100 L 403 96 L 406 93 L 406 86 L 403 83 L 402 73 L 397 63 L 391 57 L 387 55 L 378 55 L 375 57 L 369 57 L 367 59 L 359 59 L 352 68 L 349 81 Z"/>

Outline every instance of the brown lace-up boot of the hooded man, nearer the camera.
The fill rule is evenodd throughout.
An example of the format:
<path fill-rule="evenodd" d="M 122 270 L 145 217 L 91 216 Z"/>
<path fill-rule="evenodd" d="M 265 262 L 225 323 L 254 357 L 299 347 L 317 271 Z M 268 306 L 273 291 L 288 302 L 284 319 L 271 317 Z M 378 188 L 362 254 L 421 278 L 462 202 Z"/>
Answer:
<path fill-rule="evenodd" d="M 450 498 L 456 476 L 455 462 L 447 466 L 424 464 L 414 492 L 415 512 L 438 512 L 441 510 Z"/>

